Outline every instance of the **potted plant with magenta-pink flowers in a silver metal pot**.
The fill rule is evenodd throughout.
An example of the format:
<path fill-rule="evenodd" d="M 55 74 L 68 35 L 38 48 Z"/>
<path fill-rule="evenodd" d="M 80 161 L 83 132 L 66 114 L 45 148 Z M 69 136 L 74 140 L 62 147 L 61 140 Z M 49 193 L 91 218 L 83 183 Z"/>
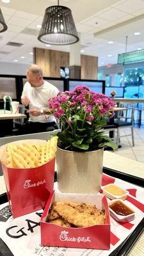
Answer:
<path fill-rule="evenodd" d="M 102 128 L 105 119 L 113 117 L 115 102 L 87 86 L 76 86 L 73 92 L 58 93 L 48 105 L 48 117 L 54 115 L 62 125 L 57 134 L 58 188 L 69 193 L 97 193 L 104 146 L 117 147 Z"/>

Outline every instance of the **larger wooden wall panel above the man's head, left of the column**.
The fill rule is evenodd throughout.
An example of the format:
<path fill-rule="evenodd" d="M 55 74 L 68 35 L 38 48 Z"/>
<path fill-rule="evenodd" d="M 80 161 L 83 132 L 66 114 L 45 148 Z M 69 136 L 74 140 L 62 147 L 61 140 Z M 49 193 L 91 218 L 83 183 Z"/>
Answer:
<path fill-rule="evenodd" d="M 60 77 L 60 67 L 69 67 L 69 52 L 35 48 L 34 55 L 35 64 L 42 68 L 44 76 Z"/>

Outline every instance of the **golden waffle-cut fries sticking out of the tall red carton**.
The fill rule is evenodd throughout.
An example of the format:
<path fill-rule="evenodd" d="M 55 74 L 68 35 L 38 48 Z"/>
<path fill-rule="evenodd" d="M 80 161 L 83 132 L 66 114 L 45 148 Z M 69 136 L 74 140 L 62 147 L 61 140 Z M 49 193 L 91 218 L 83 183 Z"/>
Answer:
<path fill-rule="evenodd" d="M 43 145 L 8 143 L 6 145 L 6 160 L 2 159 L 2 162 L 9 168 L 35 168 L 41 166 L 56 156 L 57 142 L 58 136 L 52 137 L 51 140 L 48 140 Z"/>

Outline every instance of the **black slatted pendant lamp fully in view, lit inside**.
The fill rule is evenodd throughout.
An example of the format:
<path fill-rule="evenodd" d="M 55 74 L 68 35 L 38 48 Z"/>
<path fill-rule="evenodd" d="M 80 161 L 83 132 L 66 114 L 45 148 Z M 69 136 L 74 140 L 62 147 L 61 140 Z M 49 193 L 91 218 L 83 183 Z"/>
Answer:
<path fill-rule="evenodd" d="M 50 6 L 45 10 L 38 40 L 45 44 L 67 45 L 79 41 L 72 12 L 65 6 Z"/>

